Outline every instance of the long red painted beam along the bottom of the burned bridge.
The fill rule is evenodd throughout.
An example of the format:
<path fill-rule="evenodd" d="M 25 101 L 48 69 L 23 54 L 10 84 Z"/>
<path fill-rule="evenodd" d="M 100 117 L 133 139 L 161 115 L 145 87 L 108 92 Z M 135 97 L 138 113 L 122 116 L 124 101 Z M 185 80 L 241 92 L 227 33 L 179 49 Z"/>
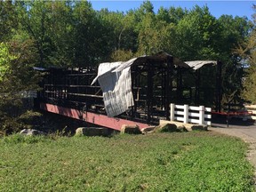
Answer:
<path fill-rule="evenodd" d="M 64 107 L 52 105 L 49 103 L 40 103 L 40 108 L 48 112 L 83 120 L 91 124 L 98 124 L 100 126 L 105 126 L 118 131 L 121 130 L 121 127 L 123 124 L 130 124 L 130 125 L 137 124 L 140 127 L 140 129 L 150 126 L 150 124 L 142 124 L 142 123 L 133 122 L 133 121 L 125 120 L 121 118 L 95 114 L 92 112 L 82 112 L 75 108 L 64 108 Z"/>

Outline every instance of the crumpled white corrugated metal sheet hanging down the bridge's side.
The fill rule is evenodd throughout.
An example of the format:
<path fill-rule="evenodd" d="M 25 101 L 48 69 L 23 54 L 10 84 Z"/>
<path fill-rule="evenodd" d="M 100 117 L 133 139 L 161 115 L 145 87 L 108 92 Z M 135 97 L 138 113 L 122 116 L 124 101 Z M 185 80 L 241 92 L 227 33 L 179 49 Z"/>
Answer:
<path fill-rule="evenodd" d="M 99 81 L 108 116 L 117 116 L 134 105 L 131 67 L 114 72 L 116 68 L 123 64 L 124 62 L 101 63 L 98 76 L 92 81 L 92 84 L 96 80 Z"/>

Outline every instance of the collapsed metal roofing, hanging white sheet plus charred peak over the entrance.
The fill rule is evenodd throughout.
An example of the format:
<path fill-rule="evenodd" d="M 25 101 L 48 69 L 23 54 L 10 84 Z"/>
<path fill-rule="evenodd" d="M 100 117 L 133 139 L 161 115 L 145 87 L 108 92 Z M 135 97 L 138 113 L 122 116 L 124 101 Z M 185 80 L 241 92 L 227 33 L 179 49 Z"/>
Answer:
<path fill-rule="evenodd" d="M 174 66 L 190 68 L 188 64 L 173 58 L 172 55 L 166 52 L 159 52 L 151 56 L 140 56 L 127 61 L 101 63 L 98 68 L 98 75 L 93 79 L 92 84 L 97 80 L 99 81 L 108 116 L 117 116 L 134 105 L 132 97 L 132 66 L 147 66 L 150 63 L 156 64 L 155 67 L 164 68 L 167 67 L 166 63 L 168 62 Z"/>

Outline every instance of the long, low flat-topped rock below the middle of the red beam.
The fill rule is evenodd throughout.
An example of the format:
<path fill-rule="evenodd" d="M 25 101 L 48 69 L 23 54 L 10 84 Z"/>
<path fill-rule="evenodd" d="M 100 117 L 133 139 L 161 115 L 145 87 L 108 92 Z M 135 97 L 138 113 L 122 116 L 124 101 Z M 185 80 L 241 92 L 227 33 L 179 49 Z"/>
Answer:
<path fill-rule="evenodd" d="M 79 127 L 76 129 L 76 135 L 108 136 L 108 128 L 105 128 L 105 127 Z"/>

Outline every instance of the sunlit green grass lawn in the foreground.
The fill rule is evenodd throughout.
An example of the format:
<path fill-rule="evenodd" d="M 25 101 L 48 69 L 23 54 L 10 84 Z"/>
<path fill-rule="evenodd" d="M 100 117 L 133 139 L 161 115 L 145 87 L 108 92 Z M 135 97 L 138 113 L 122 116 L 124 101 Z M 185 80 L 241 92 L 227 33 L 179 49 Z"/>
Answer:
<path fill-rule="evenodd" d="M 253 191 L 247 145 L 213 132 L 0 139 L 0 191 Z"/>

